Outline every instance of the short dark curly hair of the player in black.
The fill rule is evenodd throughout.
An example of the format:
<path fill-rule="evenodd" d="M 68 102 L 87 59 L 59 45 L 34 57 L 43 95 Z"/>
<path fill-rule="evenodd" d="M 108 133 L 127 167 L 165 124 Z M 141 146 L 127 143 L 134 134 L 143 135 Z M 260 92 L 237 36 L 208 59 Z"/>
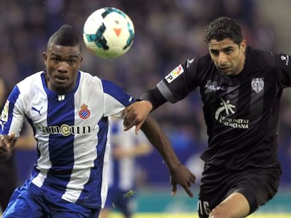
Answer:
<path fill-rule="evenodd" d="M 243 41 L 242 29 L 238 22 L 232 18 L 216 18 L 205 29 L 206 43 L 209 43 L 212 39 L 221 41 L 227 38 L 238 45 Z"/>

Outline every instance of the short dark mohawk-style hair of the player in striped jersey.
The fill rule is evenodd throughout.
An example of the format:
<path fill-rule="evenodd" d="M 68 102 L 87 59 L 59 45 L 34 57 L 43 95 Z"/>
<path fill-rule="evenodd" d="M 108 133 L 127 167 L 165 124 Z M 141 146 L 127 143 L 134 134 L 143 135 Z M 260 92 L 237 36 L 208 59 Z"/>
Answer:
<path fill-rule="evenodd" d="M 79 36 L 70 25 L 62 25 L 60 29 L 48 39 L 47 47 L 51 46 L 51 44 L 58 46 L 79 46 L 80 51 L 82 51 Z"/>

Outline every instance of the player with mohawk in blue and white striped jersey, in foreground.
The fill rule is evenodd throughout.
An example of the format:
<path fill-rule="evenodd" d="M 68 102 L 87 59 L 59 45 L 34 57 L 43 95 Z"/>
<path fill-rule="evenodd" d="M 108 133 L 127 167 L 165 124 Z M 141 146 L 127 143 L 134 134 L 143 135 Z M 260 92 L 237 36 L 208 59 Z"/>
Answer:
<path fill-rule="evenodd" d="M 11 156 L 25 118 L 37 140 L 37 163 L 16 189 L 3 217 L 98 217 L 107 196 L 108 116 L 122 116 L 134 99 L 110 81 L 80 71 L 78 35 L 63 25 L 48 40 L 45 71 L 20 81 L 1 113 L 0 160 Z M 159 125 L 142 127 L 166 161 L 172 186 L 192 196 L 194 175 L 174 154 Z"/>

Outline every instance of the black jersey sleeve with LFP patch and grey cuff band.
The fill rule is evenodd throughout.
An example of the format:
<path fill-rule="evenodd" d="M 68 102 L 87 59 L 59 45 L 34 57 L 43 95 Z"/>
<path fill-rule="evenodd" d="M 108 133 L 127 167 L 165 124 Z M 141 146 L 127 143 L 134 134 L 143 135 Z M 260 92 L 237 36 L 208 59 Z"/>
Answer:
<path fill-rule="evenodd" d="M 169 72 L 157 84 L 157 89 L 169 102 L 178 102 L 198 86 L 197 72 L 198 59 L 187 60 Z"/>

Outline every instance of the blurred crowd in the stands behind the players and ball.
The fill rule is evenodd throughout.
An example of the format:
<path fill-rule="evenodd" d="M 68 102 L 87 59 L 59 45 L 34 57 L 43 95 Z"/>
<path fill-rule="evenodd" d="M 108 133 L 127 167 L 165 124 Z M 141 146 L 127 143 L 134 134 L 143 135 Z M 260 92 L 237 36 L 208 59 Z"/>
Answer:
<path fill-rule="evenodd" d="M 113 6 L 127 13 L 134 22 L 134 44 L 115 60 L 103 60 L 84 47 L 82 70 L 114 81 L 129 94 L 139 97 L 180 62 L 207 52 L 203 41 L 205 25 L 221 15 L 240 22 L 247 43 L 252 47 L 276 50 L 276 33 L 259 17 L 257 1 L 1 0 L 0 76 L 9 92 L 25 76 L 44 69 L 42 53 L 48 37 L 60 25 L 72 25 L 82 37 L 86 18 L 98 8 Z M 278 132 L 284 184 L 291 183 L 287 172 L 291 164 L 290 100 L 287 95 L 283 98 Z M 199 154 L 207 147 L 199 90 L 178 104 L 164 104 L 153 116 L 167 132 L 181 161 L 199 174 L 202 168 Z M 18 161 L 23 158 L 19 155 Z M 161 164 L 157 152 L 139 161 L 141 182 L 168 182 L 167 168 Z"/>

